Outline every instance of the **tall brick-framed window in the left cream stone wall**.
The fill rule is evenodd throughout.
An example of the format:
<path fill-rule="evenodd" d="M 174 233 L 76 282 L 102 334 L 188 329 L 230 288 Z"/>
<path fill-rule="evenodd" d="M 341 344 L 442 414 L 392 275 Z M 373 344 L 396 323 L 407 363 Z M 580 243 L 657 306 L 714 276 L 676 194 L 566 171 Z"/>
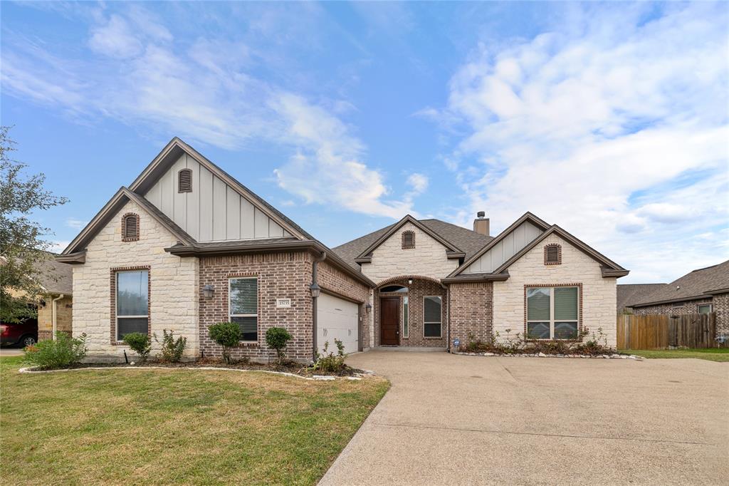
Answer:
<path fill-rule="evenodd" d="M 149 270 L 117 271 L 117 341 L 149 333 Z"/>

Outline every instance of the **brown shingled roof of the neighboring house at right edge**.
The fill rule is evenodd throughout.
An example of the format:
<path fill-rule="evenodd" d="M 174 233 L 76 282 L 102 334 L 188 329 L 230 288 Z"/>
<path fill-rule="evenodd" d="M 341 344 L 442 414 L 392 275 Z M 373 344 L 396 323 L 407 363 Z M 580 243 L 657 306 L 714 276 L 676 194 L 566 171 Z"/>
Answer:
<path fill-rule="evenodd" d="M 683 277 L 629 303 L 631 307 L 668 304 L 708 298 L 714 293 L 729 293 L 729 260 L 696 269 Z"/>

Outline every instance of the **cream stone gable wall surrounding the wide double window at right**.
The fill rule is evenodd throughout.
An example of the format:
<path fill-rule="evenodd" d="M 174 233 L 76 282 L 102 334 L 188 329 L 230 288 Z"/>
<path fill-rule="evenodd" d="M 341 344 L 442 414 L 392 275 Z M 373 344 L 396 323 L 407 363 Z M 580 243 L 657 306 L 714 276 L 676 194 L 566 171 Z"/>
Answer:
<path fill-rule="evenodd" d="M 547 266 L 544 247 L 555 243 L 562 246 L 562 263 Z M 553 234 L 515 261 L 509 274 L 506 281 L 494 282 L 494 331 L 502 338 L 507 329 L 512 336 L 525 331 L 524 285 L 582 284 L 582 328 L 602 328 L 609 347 L 615 347 L 616 279 L 603 278 L 600 264 L 588 255 Z"/>

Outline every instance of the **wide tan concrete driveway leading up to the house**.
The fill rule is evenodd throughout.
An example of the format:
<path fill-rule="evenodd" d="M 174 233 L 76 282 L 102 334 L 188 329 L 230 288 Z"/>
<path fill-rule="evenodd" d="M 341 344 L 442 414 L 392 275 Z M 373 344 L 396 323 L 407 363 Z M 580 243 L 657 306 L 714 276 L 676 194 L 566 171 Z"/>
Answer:
<path fill-rule="evenodd" d="M 367 352 L 389 378 L 322 485 L 726 484 L 729 363 Z"/>

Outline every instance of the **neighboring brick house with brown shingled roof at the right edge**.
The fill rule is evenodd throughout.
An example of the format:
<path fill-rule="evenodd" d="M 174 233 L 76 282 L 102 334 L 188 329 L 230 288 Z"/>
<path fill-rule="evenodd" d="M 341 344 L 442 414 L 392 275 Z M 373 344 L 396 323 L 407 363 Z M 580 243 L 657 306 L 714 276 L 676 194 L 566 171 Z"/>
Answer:
<path fill-rule="evenodd" d="M 698 269 L 627 304 L 634 314 L 717 313 L 717 333 L 729 333 L 729 260 Z"/>

